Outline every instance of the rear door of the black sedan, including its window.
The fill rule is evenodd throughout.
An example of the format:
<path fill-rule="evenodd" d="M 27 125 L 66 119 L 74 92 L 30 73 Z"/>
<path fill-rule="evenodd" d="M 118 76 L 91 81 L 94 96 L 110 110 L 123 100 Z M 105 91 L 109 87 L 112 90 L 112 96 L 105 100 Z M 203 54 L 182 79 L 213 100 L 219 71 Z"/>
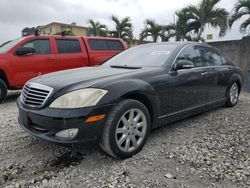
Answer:
<path fill-rule="evenodd" d="M 208 67 L 211 80 L 208 84 L 209 101 L 216 102 L 224 99 L 232 74 L 230 63 L 213 48 L 204 46 L 201 48 L 201 53 L 204 63 Z"/>

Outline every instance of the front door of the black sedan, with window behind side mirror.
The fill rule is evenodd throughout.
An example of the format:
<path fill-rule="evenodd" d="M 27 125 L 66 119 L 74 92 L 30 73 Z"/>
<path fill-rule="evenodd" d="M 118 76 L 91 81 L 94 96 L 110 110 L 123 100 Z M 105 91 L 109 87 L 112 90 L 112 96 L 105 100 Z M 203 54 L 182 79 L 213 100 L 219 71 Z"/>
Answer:
<path fill-rule="evenodd" d="M 193 62 L 194 68 L 174 70 L 179 60 Z M 171 115 L 207 103 L 209 82 L 199 45 L 188 45 L 176 58 L 161 93 L 161 114 Z"/>

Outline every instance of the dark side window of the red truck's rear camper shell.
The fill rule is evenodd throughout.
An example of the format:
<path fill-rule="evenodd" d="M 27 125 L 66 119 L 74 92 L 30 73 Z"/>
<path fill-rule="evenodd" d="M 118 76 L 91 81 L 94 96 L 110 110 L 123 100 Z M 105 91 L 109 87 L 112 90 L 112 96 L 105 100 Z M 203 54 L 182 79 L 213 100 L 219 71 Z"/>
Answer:
<path fill-rule="evenodd" d="M 88 43 L 92 50 L 124 50 L 121 42 L 117 40 L 90 39 Z"/>

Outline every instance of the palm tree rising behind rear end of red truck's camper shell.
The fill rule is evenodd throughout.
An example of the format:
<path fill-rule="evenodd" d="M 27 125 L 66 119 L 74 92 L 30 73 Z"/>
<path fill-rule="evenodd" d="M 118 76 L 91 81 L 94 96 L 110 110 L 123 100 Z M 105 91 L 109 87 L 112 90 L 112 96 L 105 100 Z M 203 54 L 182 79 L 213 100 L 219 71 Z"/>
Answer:
<path fill-rule="evenodd" d="M 110 32 L 112 37 L 122 38 L 125 41 L 133 39 L 133 26 L 130 17 L 119 20 L 117 16 L 112 15 L 111 19 L 115 23 L 115 30 Z"/>

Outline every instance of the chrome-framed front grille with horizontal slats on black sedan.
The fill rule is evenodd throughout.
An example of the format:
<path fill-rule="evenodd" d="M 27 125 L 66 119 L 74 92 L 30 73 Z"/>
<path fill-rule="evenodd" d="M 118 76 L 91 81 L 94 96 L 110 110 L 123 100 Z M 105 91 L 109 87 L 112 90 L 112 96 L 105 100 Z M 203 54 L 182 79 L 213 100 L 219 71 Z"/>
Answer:
<path fill-rule="evenodd" d="M 30 82 L 23 87 L 21 99 L 27 106 L 41 107 L 48 100 L 52 91 L 51 87 Z"/>

